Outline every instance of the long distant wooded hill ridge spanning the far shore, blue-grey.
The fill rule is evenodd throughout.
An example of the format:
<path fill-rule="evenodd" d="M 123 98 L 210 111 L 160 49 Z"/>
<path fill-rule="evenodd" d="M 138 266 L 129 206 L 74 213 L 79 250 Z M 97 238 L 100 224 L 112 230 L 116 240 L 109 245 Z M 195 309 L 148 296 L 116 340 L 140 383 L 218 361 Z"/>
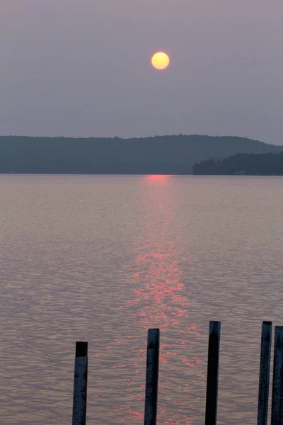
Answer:
<path fill-rule="evenodd" d="M 205 159 L 282 149 L 244 137 L 202 135 L 139 139 L 5 136 L 0 137 L 0 173 L 192 174 L 192 165 Z"/>

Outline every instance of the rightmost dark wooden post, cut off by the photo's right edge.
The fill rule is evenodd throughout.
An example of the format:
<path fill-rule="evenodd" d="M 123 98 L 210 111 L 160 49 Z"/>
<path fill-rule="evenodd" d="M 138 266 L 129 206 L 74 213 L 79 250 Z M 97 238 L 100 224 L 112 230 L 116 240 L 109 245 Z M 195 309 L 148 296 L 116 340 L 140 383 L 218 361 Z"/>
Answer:
<path fill-rule="evenodd" d="M 283 424 L 283 326 L 275 326 L 271 425 Z"/>

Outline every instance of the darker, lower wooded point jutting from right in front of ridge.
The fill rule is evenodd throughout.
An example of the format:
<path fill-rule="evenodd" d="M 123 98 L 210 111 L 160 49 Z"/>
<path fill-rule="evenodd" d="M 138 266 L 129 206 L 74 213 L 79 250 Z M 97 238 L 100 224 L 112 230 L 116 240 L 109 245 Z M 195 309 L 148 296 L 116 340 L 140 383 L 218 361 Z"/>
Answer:
<path fill-rule="evenodd" d="M 192 166 L 193 174 L 248 174 L 283 176 L 283 152 L 279 154 L 236 154 L 225 159 L 208 159 Z"/>

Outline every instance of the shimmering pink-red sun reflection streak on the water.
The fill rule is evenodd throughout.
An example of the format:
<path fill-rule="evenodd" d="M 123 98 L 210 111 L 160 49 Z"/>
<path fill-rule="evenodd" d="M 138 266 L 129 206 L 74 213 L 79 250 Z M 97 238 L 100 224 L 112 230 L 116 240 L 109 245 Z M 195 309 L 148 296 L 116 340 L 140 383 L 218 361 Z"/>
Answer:
<path fill-rule="evenodd" d="M 190 357 L 190 347 L 200 336 L 191 322 L 192 302 L 182 281 L 189 271 L 183 243 L 175 220 L 175 203 L 169 176 L 145 176 L 146 196 L 143 214 L 146 220 L 134 247 L 134 261 L 128 264 L 126 283 L 132 290 L 127 303 L 132 320 L 144 329 L 161 329 L 158 421 L 169 424 L 192 424 L 187 412 L 192 407 L 193 385 L 203 385 L 204 377 L 195 372 L 201 359 Z M 146 333 L 145 333 L 146 334 Z M 172 343 L 172 341 L 174 341 Z M 146 346 L 137 353 L 137 375 L 145 378 Z M 193 381 L 193 384 L 192 384 Z M 190 383 L 189 383 L 190 382 Z M 144 385 L 137 394 L 136 382 L 127 380 L 127 392 L 139 402 L 141 412 L 121 406 L 128 419 L 142 421 Z"/>

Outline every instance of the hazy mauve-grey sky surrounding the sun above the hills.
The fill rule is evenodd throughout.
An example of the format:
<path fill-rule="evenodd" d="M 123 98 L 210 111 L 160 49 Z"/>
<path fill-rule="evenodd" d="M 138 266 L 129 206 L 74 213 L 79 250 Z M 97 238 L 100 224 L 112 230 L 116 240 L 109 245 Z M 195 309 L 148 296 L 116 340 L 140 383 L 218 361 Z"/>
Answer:
<path fill-rule="evenodd" d="M 282 46 L 282 0 L 0 0 L 0 134 L 281 145 Z"/>

